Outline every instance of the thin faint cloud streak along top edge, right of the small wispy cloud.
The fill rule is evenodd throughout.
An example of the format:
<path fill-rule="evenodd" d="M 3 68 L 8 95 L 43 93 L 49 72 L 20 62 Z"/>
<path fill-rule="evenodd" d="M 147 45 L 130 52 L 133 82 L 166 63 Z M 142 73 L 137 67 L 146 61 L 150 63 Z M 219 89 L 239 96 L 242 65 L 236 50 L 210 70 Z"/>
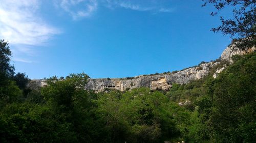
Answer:
<path fill-rule="evenodd" d="M 118 1 L 118 0 L 103 0 L 106 6 L 110 9 L 125 8 L 135 11 L 150 11 L 150 12 L 173 12 L 174 8 L 163 8 L 159 5 L 151 5 L 150 1 L 147 3 L 139 3 L 139 1 Z M 137 3 L 136 3 L 137 2 Z"/>

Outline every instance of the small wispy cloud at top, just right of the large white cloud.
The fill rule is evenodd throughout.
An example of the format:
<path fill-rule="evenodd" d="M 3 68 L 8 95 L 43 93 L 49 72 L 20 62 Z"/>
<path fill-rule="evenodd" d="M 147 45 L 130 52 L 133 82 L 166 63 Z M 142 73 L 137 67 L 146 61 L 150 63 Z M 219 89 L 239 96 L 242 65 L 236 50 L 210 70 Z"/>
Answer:
<path fill-rule="evenodd" d="M 90 17 L 97 10 L 97 0 L 56 0 L 55 6 L 62 8 L 73 20 Z"/>

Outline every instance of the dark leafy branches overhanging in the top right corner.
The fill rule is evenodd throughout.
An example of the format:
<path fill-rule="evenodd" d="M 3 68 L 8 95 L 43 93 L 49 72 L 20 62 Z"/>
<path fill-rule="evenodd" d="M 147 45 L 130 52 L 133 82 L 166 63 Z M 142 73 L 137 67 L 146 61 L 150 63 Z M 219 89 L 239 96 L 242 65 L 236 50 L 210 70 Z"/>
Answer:
<path fill-rule="evenodd" d="M 225 19 L 220 17 L 222 24 L 212 31 L 220 32 L 223 35 L 230 35 L 230 38 L 238 38 L 238 42 L 234 42 L 240 48 L 252 47 L 255 45 L 256 33 L 256 7 L 255 0 L 202 0 L 204 4 L 213 4 L 217 12 L 211 12 L 210 15 L 217 15 L 226 7 L 233 7 L 233 17 Z"/>

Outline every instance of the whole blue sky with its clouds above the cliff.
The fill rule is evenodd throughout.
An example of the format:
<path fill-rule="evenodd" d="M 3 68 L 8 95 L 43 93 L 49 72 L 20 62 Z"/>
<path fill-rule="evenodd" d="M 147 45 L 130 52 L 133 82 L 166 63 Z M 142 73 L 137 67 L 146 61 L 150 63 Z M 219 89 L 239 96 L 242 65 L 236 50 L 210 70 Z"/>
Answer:
<path fill-rule="evenodd" d="M 0 39 L 30 78 L 162 73 L 219 58 L 230 43 L 202 1 L 0 0 Z M 229 17 L 228 10 L 221 15 Z"/>

